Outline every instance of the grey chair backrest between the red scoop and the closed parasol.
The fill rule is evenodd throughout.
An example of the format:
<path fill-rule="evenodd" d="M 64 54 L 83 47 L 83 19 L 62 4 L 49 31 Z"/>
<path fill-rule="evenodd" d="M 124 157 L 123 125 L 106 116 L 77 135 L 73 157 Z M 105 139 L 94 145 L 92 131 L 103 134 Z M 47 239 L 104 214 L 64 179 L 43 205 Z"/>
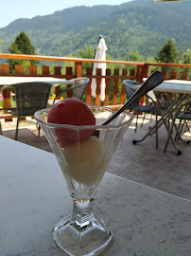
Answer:
<path fill-rule="evenodd" d="M 87 84 L 90 80 L 89 78 L 77 78 L 73 79 L 73 81 L 75 82 L 76 87 L 73 89 L 72 98 L 82 100 L 82 97 L 86 91 Z"/>

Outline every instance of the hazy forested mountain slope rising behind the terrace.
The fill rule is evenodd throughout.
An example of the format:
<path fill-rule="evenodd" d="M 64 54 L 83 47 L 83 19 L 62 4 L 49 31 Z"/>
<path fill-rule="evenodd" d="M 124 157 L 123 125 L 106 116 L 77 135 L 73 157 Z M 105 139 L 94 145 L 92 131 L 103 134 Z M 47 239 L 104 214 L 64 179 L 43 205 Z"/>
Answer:
<path fill-rule="evenodd" d="M 169 39 L 180 54 L 191 47 L 191 2 L 155 4 L 136 0 L 120 6 L 76 7 L 54 14 L 19 19 L 0 29 L 4 51 L 20 31 L 30 37 L 38 54 L 78 57 L 85 46 L 96 47 L 102 34 L 113 59 L 124 59 L 138 50 L 145 57 L 156 56 Z"/>

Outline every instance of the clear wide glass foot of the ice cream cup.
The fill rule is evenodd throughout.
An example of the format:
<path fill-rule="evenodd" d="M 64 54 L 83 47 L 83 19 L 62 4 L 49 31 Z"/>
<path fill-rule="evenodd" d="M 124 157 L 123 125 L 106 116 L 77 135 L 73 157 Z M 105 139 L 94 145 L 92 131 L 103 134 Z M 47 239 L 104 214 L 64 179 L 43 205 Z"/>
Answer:
<path fill-rule="evenodd" d="M 94 255 L 106 247 L 113 237 L 107 225 L 93 214 L 80 222 L 77 216 L 63 218 L 53 229 L 53 238 L 71 256 Z"/>

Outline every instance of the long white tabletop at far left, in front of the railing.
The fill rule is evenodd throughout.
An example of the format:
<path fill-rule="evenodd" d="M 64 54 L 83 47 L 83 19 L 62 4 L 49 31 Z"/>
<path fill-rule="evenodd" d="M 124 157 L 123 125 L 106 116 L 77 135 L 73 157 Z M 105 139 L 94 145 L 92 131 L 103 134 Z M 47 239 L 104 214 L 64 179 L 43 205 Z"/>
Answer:
<path fill-rule="evenodd" d="M 5 77 L 0 76 L 0 85 L 10 85 L 18 82 L 50 82 L 52 85 L 74 84 L 73 81 L 52 77 Z"/>

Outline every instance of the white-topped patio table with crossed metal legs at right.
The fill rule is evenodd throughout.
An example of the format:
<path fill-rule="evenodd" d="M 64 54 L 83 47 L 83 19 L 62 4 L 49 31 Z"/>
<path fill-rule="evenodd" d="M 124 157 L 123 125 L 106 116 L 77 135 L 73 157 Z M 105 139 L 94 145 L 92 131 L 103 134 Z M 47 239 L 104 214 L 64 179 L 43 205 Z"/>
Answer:
<path fill-rule="evenodd" d="M 143 79 L 146 81 L 147 79 Z M 133 89 L 138 89 L 140 85 L 134 85 Z M 173 113 L 176 111 L 176 109 L 181 105 L 182 101 L 186 101 L 191 95 L 191 81 L 182 81 L 182 80 L 170 80 L 162 82 L 160 85 L 155 87 L 152 91 L 154 91 L 156 94 L 158 93 L 175 93 L 178 95 L 177 99 L 173 101 L 165 111 L 165 113 L 162 114 L 162 118 L 158 120 L 158 128 L 165 124 L 165 129 L 167 131 L 168 136 L 171 139 L 172 144 L 174 145 L 174 148 L 178 155 L 182 154 L 182 151 L 178 148 L 177 144 L 175 143 L 174 139 L 172 138 L 170 134 L 171 127 L 168 127 L 166 124 L 166 119 L 172 119 Z M 158 98 L 157 98 L 158 99 Z M 159 102 L 158 102 L 159 105 Z M 160 110 L 160 108 L 159 108 Z M 176 124 L 174 124 L 176 128 Z M 151 129 L 148 131 L 148 133 L 141 139 L 133 140 L 133 144 L 136 144 L 136 142 L 143 141 L 146 137 L 151 135 L 153 131 L 156 129 L 156 125 L 153 125 Z M 177 128 L 176 128 L 177 129 Z M 167 146 L 167 141 L 165 143 L 165 150 Z M 165 152 L 164 150 L 164 152 Z"/>

